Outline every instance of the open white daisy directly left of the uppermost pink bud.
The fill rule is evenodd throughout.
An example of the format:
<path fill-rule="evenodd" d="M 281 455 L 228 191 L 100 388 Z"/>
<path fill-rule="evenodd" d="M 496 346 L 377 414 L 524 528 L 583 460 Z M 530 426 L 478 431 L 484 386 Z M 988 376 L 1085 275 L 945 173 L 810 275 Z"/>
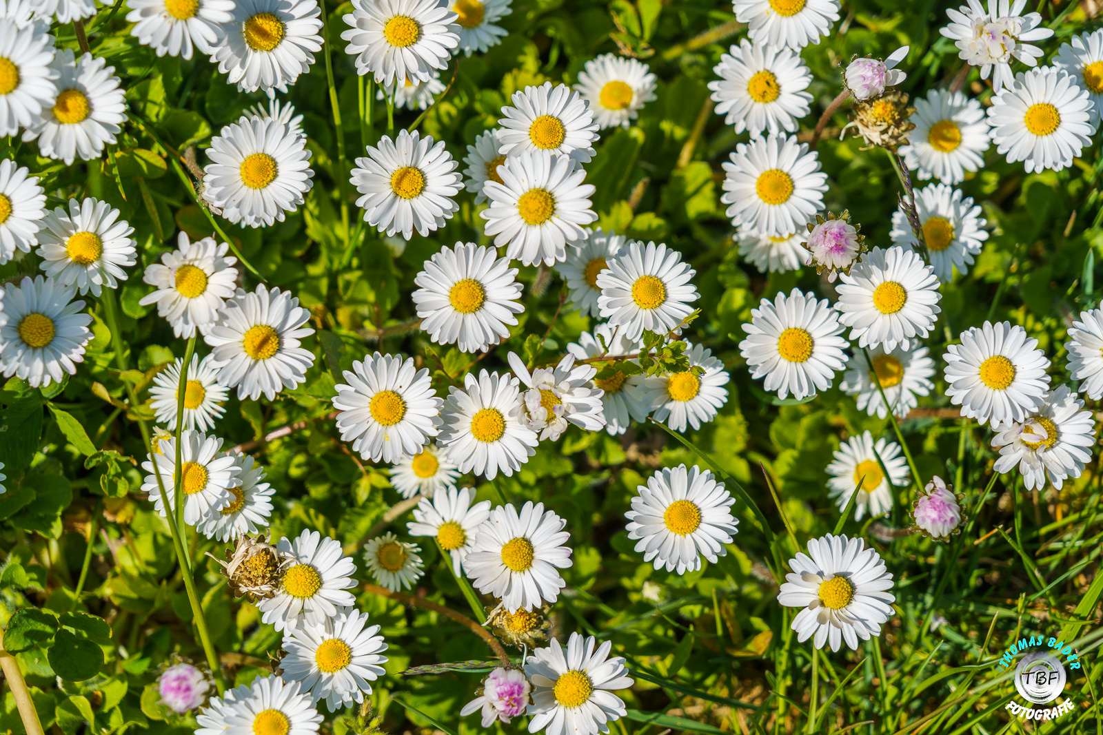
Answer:
<path fill-rule="evenodd" d="M 812 95 L 805 91 L 812 73 L 793 51 L 742 39 L 720 56 L 708 83 L 716 111 L 736 132 L 751 138 L 765 131 L 796 131 L 796 121 L 808 114 Z"/>

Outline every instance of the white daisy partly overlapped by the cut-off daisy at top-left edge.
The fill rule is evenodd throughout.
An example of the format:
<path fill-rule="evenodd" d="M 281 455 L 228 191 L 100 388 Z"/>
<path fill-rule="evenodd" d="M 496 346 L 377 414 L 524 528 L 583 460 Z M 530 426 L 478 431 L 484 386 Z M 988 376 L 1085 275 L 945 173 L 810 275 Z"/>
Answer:
<path fill-rule="evenodd" d="M 57 97 L 25 126 L 23 141 L 38 138 L 43 155 L 67 165 L 77 156 L 98 159 L 127 120 L 119 77 L 113 74 L 115 67 L 106 64 L 92 54 L 77 60 L 71 50 L 58 50 L 50 63 L 57 74 Z"/>

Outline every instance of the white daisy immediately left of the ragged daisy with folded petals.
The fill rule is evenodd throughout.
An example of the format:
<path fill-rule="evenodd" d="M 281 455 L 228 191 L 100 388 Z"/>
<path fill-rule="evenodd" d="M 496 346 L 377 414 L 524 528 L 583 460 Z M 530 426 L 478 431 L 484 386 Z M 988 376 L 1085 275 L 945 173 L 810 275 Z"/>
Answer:
<path fill-rule="evenodd" d="M 522 420 L 520 381 L 480 370 L 463 376 L 463 389 L 449 386 L 437 442 L 461 473 L 486 479 L 508 477 L 536 454 L 539 440 Z"/>

